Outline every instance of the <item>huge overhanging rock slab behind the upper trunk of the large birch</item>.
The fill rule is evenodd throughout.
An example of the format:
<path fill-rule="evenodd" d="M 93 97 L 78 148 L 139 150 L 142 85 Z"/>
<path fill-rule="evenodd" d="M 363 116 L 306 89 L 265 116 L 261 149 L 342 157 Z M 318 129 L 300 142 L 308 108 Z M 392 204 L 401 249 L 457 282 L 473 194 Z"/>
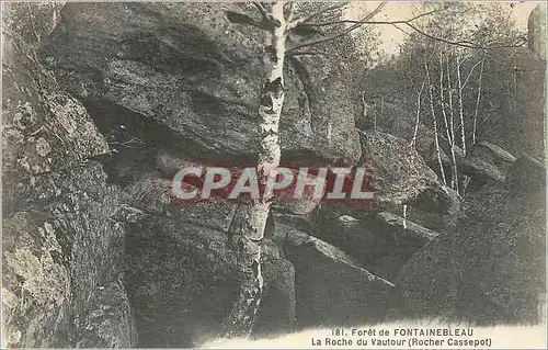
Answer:
<path fill-rule="evenodd" d="M 256 12 L 251 4 L 68 3 L 43 58 L 76 97 L 159 122 L 193 156 L 241 161 L 259 145 L 263 34 L 231 24 L 227 10 Z M 299 79 L 309 63 L 286 70 L 284 159 L 353 163 L 361 154 L 353 109 L 338 102 L 349 100 L 340 99 L 346 89 L 333 64 L 311 64 L 328 65 L 313 81 Z"/>

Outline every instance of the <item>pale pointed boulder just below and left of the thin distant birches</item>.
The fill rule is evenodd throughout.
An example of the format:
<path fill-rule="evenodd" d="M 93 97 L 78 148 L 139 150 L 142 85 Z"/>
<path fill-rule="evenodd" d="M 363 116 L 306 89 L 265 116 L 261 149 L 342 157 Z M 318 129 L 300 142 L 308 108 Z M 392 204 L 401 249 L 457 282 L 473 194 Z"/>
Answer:
<path fill-rule="evenodd" d="M 459 195 L 438 181 L 406 140 L 373 131 L 362 132 L 361 139 L 359 166 L 368 171 L 375 205 L 409 204 L 441 214 L 458 212 Z"/>

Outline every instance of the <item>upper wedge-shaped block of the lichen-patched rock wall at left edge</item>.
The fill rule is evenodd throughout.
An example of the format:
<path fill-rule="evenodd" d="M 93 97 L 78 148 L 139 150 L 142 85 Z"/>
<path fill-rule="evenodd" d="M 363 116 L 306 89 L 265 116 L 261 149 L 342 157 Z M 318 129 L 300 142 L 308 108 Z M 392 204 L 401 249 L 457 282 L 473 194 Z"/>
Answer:
<path fill-rule="evenodd" d="M 106 151 L 106 142 L 82 104 L 59 90 L 33 49 L 14 32 L 7 32 L 3 71 L 5 188 Z"/>

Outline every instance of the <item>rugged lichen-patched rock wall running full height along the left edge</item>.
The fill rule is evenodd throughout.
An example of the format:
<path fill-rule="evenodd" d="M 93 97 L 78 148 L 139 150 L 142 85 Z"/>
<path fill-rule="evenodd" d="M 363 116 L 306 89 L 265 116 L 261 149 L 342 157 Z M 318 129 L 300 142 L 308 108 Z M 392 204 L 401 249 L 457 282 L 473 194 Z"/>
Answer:
<path fill-rule="evenodd" d="M 80 102 L 46 72 L 8 5 L 2 91 L 2 309 L 5 347 L 132 347 L 119 191 L 90 158 L 107 150 Z M 46 7 L 47 8 L 47 7 Z M 13 11 L 13 12 L 12 12 Z M 39 18 L 49 23 L 55 13 Z M 43 31 L 42 31 L 43 30 Z M 47 27 L 38 27 L 36 41 Z M 36 43 L 34 43 L 36 44 Z M 125 301 L 125 302 L 122 302 Z M 93 313 L 110 305 L 101 325 Z M 96 326 L 96 327 L 95 327 Z M 84 329 L 95 327 L 92 338 Z M 85 340 L 84 340 L 85 339 Z"/>

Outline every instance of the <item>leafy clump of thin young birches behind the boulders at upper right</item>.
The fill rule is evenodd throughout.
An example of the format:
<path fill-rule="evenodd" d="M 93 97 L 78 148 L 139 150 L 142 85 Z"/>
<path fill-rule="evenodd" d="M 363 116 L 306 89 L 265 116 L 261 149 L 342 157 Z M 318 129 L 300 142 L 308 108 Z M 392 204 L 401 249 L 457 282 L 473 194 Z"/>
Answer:
<path fill-rule="evenodd" d="M 505 3 L 427 2 L 415 11 L 435 12 L 412 22 L 413 31 L 399 55 L 364 76 L 362 89 L 376 105 L 385 131 L 414 138 L 418 127 L 411 125 L 415 124 L 419 98 L 416 114 L 420 124 L 430 129 L 429 137 L 454 145 L 444 149 L 449 158 L 455 147 L 466 154 L 496 118 L 520 113 L 515 56 L 523 50 L 525 35 L 516 30 Z M 418 97 L 426 67 L 432 78 L 432 109 L 429 93 Z M 398 109 L 385 109 L 387 101 Z M 400 113 L 395 117 L 398 123 L 387 123 L 386 118 L 393 118 L 387 113 L 395 111 Z M 442 126 L 438 135 L 432 135 L 432 111 L 438 128 Z M 421 151 L 430 157 L 425 154 L 430 148 Z"/>

